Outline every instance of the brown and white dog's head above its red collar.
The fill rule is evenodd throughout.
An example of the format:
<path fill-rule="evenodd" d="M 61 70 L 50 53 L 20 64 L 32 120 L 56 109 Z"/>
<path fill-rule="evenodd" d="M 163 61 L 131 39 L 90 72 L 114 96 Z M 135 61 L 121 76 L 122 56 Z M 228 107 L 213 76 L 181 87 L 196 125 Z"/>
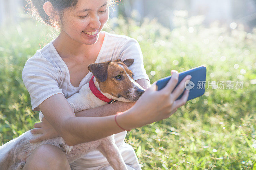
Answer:
<path fill-rule="evenodd" d="M 133 102 L 139 99 L 145 90 L 134 81 L 133 73 L 128 69 L 134 59 L 93 63 L 88 70 L 95 76 L 100 91 L 109 99 Z"/>

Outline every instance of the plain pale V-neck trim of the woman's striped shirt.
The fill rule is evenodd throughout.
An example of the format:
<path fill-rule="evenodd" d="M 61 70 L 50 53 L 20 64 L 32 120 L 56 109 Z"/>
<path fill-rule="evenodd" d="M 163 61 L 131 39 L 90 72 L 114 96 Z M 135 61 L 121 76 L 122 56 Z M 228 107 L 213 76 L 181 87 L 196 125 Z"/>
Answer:
<path fill-rule="evenodd" d="M 102 32 L 105 33 L 104 39 L 103 39 L 103 43 L 102 43 L 102 46 L 101 46 L 101 48 L 100 48 L 100 52 L 99 52 L 99 54 L 98 54 L 98 56 L 97 56 L 97 58 L 96 58 L 96 60 L 95 60 L 94 63 L 98 63 L 98 62 L 99 62 L 100 57 L 101 57 L 101 55 L 102 55 L 102 53 L 103 53 L 103 50 L 104 50 L 104 48 L 105 48 L 105 45 L 106 45 L 106 41 L 107 41 L 107 36 L 108 36 L 108 34 L 107 34 L 105 31 L 102 31 Z M 52 42 L 53 42 L 54 40 L 55 40 L 55 39 L 53 39 L 53 40 L 50 42 L 50 46 L 51 46 L 52 50 L 54 51 L 54 53 L 56 54 L 56 56 L 58 57 L 58 59 L 60 60 L 60 62 L 63 64 L 63 66 L 65 67 L 65 69 L 66 69 L 66 71 L 67 71 L 67 73 L 68 73 L 68 84 L 69 84 L 69 86 L 70 86 L 72 89 L 74 89 L 74 90 L 80 89 L 81 86 L 84 85 L 84 81 L 87 80 L 87 79 L 89 79 L 89 78 L 91 78 L 92 72 L 89 71 L 88 74 L 86 74 L 86 76 L 81 80 L 81 82 L 80 82 L 80 84 L 79 84 L 78 87 L 73 86 L 73 85 L 71 84 L 71 82 L 70 82 L 70 74 L 69 74 L 68 66 L 67 66 L 67 64 L 62 60 L 62 58 L 60 57 L 60 55 L 59 55 L 59 53 L 57 52 L 56 48 L 53 46 L 53 43 L 52 43 Z"/>

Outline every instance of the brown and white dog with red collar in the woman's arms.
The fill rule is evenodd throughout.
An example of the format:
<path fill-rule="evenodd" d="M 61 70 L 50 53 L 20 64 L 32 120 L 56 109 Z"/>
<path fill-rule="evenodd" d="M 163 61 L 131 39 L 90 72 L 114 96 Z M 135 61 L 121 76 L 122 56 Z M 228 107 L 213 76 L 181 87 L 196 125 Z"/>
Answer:
<path fill-rule="evenodd" d="M 134 102 L 138 100 L 144 89 L 134 81 L 132 71 L 127 67 L 132 65 L 133 62 L 134 59 L 93 63 L 88 66 L 88 70 L 95 76 L 93 78 L 94 85 L 107 98 Z M 79 93 L 72 95 L 67 100 L 74 113 L 107 104 L 92 93 L 89 83 L 85 84 Z M 115 144 L 114 135 L 73 147 L 68 146 L 61 137 L 47 139 L 35 144 L 29 143 L 29 140 L 37 135 L 39 134 L 31 134 L 29 130 L 0 146 L 0 169 L 22 169 L 26 163 L 26 158 L 37 146 L 42 144 L 52 144 L 61 148 L 66 153 L 69 163 L 81 158 L 88 152 L 99 150 L 115 170 L 127 169 Z"/>

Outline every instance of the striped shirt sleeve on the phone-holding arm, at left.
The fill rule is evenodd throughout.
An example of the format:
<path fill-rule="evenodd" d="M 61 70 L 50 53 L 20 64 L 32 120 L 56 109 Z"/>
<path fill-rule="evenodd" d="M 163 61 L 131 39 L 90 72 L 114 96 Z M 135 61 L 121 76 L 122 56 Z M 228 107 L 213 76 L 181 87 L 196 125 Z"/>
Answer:
<path fill-rule="evenodd" d="M 39 111 L 38 106 L 54 94 L 63 94 L 58 79 L 57 71 L 43 54 L 36 53 L 28 59 L 22 70 L 22 80 L 30 94 L 33 111 Z"/>

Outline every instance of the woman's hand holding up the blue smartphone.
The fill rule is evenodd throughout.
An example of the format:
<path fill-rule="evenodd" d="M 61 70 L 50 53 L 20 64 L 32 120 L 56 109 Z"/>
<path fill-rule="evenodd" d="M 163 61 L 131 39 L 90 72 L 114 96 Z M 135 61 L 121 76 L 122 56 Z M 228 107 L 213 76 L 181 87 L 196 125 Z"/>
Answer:
<path fill-rule="evenodd" d="M 163 89 L 157 91 L 156 82 L 153 83 L 146 92 L 143 93 L 135 105 L 130 110 L 126 111 L 129 115 L 125 116 L 126 114 L 122 114 L 117 116 L 117 118 L 119 117 L 117 121 L 120 122 L 124 129 L 137 128 L 168 118 L 177 111 L 178 107 L 187 102 L 189 90 L 186 90 L 179 100 L 176 99 L 184 91 L 185 82 L 189 80 L 191 76 L 188 75 L 183 78 L 180 84 L 175 88 L 178 83 L 179 74 L 176 70 L 172 70 L 171 73 L 172 78 Z M 131 118 L 129 122 L 127 121 L 128 116 Z"/>

